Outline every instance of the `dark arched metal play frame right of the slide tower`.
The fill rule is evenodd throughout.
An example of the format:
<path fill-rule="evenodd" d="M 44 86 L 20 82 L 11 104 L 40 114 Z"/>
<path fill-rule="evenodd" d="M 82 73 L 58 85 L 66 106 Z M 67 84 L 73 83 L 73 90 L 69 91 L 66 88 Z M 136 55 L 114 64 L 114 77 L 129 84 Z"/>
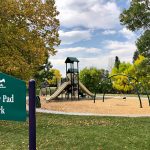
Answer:
<path fill-rule="evenodd" d="M 112 79 L 113 77 L 119 76 L 119 75 L 127 77 L 129 84 L 132 85 L 132 87 L 133 87 L 133 88 L 135 89 L 135 91 L 136 91 L 136 94 L 138 95 L 138 99 L 139 99 L 139 102 L 140 102 L 140 108 L 142 108 L 143 106 L 142 106 L 141 96 L 140 96 L 140 92 L 139 92 L 139 86 L 137 86 L 137 85 L 140 84 L 140 83 L 139 83 L 138 80 L 135 79 L 134 77 L 131 77 L 131 76 L 128 76 L 128 75 L 125 75 L 125 74 L 114 74 L 114 75 L 112 75 L 112 76 L 110 76 L 110 77 L 107 77 L 105 80 L 101 81 L 100 84 L 98 84 L 98 86 L 101 85 L 104 81 L 106 81 L 106 80 L 111 81 L 111 79 Z M 137 85 L 136 85 L 136 84 L 134 85 L 134 84 L 131 82 L 131 80 L 134 80 Z M 140 87 L 143 88 L 143 90 L 145 91 L 146 96 L 147 96 L 147 98 L 148 98 L 148 103 L 149 103 L 149 106 L 150 106 L 150 97 L 149 97 L 149 95 L 148 95 L 148 92 L 146 91 L 146 89 L 145 89 L 141 84 L 140 84 Z M 106 92 L 107 92 L 106 89 L 103 89 L 103 102 L 104 102 L 104 100 L 105 100 L 105 94 L 106 94 Z M 95 95 L 94 95 L 94 103 L 95 103 L 95 99 L 96 99 L 96 92 L 95 92 Z"/>

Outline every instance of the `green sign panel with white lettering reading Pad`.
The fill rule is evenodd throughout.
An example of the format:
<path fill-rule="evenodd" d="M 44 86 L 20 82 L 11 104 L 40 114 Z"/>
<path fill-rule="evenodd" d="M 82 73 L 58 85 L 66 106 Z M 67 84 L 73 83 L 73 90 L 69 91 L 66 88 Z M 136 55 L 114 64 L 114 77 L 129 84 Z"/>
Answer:
<path fill-rule="evenodd" d="M 26 83 L 1 72 L 0 120 L 26 121 Z"/>

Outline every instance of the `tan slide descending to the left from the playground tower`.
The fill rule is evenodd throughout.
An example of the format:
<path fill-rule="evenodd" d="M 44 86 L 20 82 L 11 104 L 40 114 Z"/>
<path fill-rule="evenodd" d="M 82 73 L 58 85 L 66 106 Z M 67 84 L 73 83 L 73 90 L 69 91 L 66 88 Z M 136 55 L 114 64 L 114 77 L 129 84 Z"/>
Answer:
<path fill-rule="evenodd" d="M 46 100 L 49 101 L 49 100 L 52 100 L 52 99 L 58 97 L 58 96 L 62 93 L 62 91 L 63 91 L 68 85 L 70 85 L 70 84 L 71 84 L 70 81 L 64 82 L 64 83 L 55 91 L 55 93 L 52 94 L 50 97 L 47 97 Z"/>

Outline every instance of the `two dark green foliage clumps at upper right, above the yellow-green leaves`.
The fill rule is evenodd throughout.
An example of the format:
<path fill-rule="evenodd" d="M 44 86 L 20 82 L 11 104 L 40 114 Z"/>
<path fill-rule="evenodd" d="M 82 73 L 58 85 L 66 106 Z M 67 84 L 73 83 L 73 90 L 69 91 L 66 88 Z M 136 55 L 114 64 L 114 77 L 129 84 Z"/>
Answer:
<path fill-rule="evenodd" d="M 120 15 L 120 22 L 129 30 L 142 30 L 136 45 L 143 56 L 150 58 L 150 1 L 132 0 L 129 9 Z"/>

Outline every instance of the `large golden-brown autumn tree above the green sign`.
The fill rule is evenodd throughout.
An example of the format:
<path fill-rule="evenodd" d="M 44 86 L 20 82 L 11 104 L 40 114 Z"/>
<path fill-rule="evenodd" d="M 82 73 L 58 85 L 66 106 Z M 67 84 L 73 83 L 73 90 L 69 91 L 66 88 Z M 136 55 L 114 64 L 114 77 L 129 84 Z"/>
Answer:
<path fill-rule="evenodd" d="M 0 0 L 0 71 L 33 78 L 60 44 L 54 0 Z"/>

